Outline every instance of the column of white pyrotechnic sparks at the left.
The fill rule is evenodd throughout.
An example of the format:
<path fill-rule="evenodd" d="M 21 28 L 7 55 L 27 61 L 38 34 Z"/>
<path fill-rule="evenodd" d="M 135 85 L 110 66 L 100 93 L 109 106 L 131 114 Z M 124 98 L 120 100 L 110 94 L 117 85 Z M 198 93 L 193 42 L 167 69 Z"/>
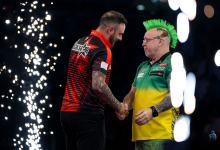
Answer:
<path fill-rule="evenodd" d="M 53 5 L 53 2 L 50 4 Z M 16 72 L 13 68 L 9 69 L 6 65 L 0 67 L 0 74 L 1 72 L 8 73 L 12 79 L 12 83 L 19 85 L 18 87 L 21 89 L 21 92 L 16 99 L 27 106 L 26 110 L 22 110 L 25 122 L 23 123 L 23 127 L 18 127 L 19 134 L 15 134 L 13 145 L 19 150 L 23 149 L 25 145 L 29 147 L 29 150 L 42 150 L 40 135 L 54 134 L 53 131 L 44 131 L 42 120 L 45 110 L 53 107 L 49 103 L 48 95 L 45 94 L 45 90 L 49 86 L 47 75 L 55 71 L 56 61 L 61 54 L 58 53 L 54 56 L 49 56 L 49 58 L 46 56 L 49 48 L 56 49 L 58 47 L 56 43 L 49 43 L 45 40 L 49 36 L 49 33 L 44 31 L 45 26 L 52 19 L 52 16 L 46 10 L 44 16 L 40 16 L 40 14 L 39 16 L 36 15 L 38 14 L 38 8 L 43 7 L 45 9 L 48 4 L 39 4 L 38 1 L 33 1 L 31 3 L 20 3 L 20 5 L 21 9 L 17 13 L 19 15 L 16 16 L 15 22 L 12 19 L 7 19 L 5 23 L 9 26 L 16 27 L 17 35 L 20 37 L 23 36 L 25 39 L 22 45 L 18 42 L 10 45 L 10 48 L 23 50 L 23 56 L 19 55 L 17 58 L 23 59 L 26 75 L 20 77 L 19 74 L 15 74 Z M 24 12 L 27 12 L 28 15 L 24 15 Z M 32 16 L 34 13 L 35 15 Z M 9 35 L 4 36 L 4 40 L 9 39 Z M 64 36 L 61 39 L 64 39 Z M 13 100 L 14 90 L 9 89 L 8 92 L 9 95 L 2 94 L 1 98 Z M 7 108 L 9 111 L 13 110 L 12 105 L 1 104 L 1 108 Z M 45 115 L 48 119 L 51 118 L 50 115 Z M 9 121 L 10 116 L 5 115 L 4 119 L 5 121 Z"/>

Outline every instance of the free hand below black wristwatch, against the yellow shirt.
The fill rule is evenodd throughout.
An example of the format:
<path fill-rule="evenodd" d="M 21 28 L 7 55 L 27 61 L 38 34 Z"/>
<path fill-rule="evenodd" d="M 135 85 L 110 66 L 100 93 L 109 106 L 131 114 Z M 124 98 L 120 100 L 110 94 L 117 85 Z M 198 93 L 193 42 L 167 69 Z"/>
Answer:
<path fill-rule="evenodd" d="M 151 108 L 141 109 L 139 112 L 135 114 L 135 116 L 138 117 L 134 119 L 134 122 L 138 125 L 144 125 L 153 118 L 152 113 L 153 112 Z"/>

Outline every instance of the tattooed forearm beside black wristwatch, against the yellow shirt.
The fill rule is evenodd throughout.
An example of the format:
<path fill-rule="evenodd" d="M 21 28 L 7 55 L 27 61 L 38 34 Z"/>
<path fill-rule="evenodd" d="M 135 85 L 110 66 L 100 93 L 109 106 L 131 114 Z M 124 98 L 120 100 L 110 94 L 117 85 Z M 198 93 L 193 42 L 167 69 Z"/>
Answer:
<path fill-rule="evenodd" d="M 166 96 L 159 104 L 157 104 L 155 106 L 158 113 L 162 113 L 164 111 L 167 111 L 172 107 L 173 106 L 171 104 L 171 97 L 170 96 Z"/>

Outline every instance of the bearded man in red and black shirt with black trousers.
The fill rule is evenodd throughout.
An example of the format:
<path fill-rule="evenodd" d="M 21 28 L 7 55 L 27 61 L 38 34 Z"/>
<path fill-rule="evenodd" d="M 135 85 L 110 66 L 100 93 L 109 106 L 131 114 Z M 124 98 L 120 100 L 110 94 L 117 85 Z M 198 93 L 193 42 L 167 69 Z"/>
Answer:
<path fill-rule="evenodd" d="M 106 12 L 96 30 L 72 47 L 61 124 L 67 150 L 104 150 L 106 103 L 120 114 L 128 114 L 108 87 L 111 47 L 122 40 L 127 20 L 116 11 Z"/>

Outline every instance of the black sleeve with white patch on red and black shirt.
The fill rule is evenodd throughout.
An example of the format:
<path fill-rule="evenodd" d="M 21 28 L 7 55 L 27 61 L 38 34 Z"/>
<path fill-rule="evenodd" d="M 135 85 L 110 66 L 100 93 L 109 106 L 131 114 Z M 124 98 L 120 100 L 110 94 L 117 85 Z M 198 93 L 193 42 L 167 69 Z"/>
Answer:
<path fill-rule="evenodd" d="M 92 70 L 101 71 L 107 75 L 107 69 L 110 64 L 107 64 L 107 50 L 106 48 L 99 48 L 93 51 L 91 55 Z"/>

